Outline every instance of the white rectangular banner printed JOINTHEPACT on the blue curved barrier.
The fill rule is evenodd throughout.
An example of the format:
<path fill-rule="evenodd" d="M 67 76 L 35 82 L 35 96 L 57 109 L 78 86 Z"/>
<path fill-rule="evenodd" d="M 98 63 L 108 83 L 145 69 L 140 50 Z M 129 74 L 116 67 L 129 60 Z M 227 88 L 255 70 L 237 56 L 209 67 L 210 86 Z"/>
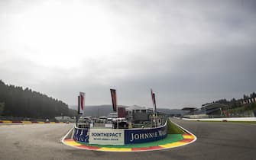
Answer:
<path fill-rule="evenodd" d="M 125 145 L 125 131 L 117 129 L 90 129 L 89 144 Z"/>

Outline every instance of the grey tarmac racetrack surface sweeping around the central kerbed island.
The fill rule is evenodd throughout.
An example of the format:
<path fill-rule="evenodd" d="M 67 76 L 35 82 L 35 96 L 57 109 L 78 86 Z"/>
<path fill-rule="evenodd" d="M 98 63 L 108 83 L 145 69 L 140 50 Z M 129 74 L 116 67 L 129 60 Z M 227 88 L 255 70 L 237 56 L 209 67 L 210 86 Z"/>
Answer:
<path fill-rule="evenodd" d="M 60 142 L 73 124 L 0 125 L 0 159 L 256 159 L 256 124 L 172 120 L 196 142 L 152 152 L 98 152 Z"/>

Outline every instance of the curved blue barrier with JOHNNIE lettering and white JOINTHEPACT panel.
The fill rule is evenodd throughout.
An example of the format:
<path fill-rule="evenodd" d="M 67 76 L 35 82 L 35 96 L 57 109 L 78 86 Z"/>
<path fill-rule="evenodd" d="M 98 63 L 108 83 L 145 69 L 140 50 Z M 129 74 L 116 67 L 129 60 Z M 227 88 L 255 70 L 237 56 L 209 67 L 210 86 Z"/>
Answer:
<path fill-rule="evenodd" d="M 83 129 L 74 128 L 73 139 L 99 145 L 125 145 L 152 142 L 167 137 L 167 122 L 164 126 L 149 129 Z"/>

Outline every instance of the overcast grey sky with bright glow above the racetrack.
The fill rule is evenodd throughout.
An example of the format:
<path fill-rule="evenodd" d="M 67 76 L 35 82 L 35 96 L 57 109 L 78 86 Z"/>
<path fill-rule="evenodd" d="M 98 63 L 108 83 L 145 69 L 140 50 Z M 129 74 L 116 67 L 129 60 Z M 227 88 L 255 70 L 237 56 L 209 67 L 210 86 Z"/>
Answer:
<path fill-rule="evenodd" d="M 0 1 L 0 79 L 76 104 L 199 107 L 256 91 L 256 1 Z"/>

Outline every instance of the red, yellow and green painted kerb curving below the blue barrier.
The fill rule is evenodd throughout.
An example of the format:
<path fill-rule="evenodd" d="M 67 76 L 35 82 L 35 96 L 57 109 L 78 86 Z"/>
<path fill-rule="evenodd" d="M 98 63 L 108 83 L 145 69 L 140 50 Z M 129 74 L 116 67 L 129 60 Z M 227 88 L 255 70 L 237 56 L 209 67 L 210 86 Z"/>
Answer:
<path fill-rule="evenodd" d="M 131 144 L 124 146 L 89 145 L 86 143 L 76 142 L 73 139 L 63 139 L 63 143 L 66 146 L 73 146 L 77 149 L 87 149 L 92 151 L 144 152 L 185 146 L 187 144 L 190 144 L 191 142 L 194 142 L 195 140 L 196 136 L 194 136 L 193 134 L 169 134 L 167 138 L 155 142 L 144 142 L 141 144 Z"/>

